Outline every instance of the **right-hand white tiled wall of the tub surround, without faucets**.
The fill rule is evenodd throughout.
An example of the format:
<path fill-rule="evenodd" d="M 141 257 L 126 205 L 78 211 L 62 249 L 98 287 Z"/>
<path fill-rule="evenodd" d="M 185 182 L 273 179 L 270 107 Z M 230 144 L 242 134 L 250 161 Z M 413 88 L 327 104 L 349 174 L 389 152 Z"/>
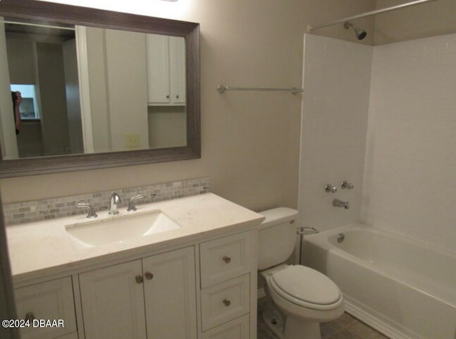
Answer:
<path fill-rule="evenodd" d="M 376 46 L 363 219 L 456 243 L 456 34 Z"/>

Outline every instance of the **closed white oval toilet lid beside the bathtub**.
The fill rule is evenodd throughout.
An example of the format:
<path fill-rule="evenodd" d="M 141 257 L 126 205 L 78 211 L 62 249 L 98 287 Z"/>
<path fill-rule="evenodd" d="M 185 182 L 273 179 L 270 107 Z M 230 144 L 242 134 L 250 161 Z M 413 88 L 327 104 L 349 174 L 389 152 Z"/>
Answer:
<path fill-rule="evenodd" d="M 281 296 L 316 305 L 331 305 L 340 301 L 341 291 L 330 278 L 313 268 L 296 265 L 276 271 L 271 286 Z"/>

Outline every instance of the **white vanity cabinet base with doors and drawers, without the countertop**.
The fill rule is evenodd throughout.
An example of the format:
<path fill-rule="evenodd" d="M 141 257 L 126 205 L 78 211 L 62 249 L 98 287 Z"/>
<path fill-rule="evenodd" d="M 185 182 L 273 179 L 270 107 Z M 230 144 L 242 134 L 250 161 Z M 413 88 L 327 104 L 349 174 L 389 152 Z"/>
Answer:
<path fill-rule="evenodd" d="M 256 231 L 204 240 L 16 288 L 18 318 L 64 324 L 22 338 L 256 338 Z"/>

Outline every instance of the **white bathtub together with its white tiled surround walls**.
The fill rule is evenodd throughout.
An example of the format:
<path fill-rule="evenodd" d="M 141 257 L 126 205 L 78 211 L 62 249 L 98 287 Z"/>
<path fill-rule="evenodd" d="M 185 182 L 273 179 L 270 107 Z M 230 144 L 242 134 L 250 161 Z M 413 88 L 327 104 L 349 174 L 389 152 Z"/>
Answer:
<path fill-rule="evenodd" d="M 375 47 L 306 35 L 304 53 L 301 224 L 329 231 L 363 221 L 442 249 L 415 252 L 396 242 L 402 236 L 382 244 L 365 234 L 348 254 L 323 239 L 313 245 L 318 235 L 306 240 L 305 253 L 315 256 L 306 263 L 392 338 L 455 339 L 447 291 L 455 293 L 456 279 L 444 277 L 456 261 L 451 254 L 443 264 L 447 256 L 435 253 L 454 253 L 456 241 L 456 34 Z M 342 180 L 354 189 L 341 189 Z M 325 192 L 328 183 L 335 194 Z M 351 208 L 334 208 L 333 199 Z M 372 256 L 353 256 L 366 249 Z"/>

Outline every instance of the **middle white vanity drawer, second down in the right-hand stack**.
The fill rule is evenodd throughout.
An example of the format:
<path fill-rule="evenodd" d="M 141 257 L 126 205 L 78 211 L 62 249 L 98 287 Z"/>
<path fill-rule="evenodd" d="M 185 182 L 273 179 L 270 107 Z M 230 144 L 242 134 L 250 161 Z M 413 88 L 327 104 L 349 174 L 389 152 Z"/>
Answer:
<path fill-rule="evenodd" d="M 202 330 L 249 313 L 250 275 L 224 281 L 201 291 Z"/>

